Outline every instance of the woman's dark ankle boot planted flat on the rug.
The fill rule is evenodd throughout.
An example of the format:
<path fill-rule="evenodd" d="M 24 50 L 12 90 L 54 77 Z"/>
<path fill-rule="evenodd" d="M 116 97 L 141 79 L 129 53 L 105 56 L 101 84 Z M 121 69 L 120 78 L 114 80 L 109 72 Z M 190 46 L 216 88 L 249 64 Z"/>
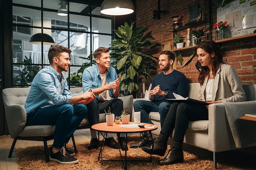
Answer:
<path fill-rule="evenodd" d="M 173 142 L 173 147 L 169 150 L 164 159 L 159 160 L 160 165 L 169 165 L 173 163 L 181 163 L 184 161 L 182 144 Z"/>

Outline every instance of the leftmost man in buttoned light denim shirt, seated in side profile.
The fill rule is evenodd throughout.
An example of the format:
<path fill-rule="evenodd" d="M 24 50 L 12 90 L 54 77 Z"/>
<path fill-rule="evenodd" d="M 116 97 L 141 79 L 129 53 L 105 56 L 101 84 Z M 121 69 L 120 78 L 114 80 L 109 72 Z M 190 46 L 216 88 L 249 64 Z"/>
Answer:
<path fill-rule="evenodd" d="M 68 89 L 62 71 L 68 71 L 70 53 L 64 46 L 51 46 L 50 66 L 37 73 L 25 102 L 26 126 L 55 125 L 50 160 L 61 164 L 78 163 L 65 144 L 87 114 L 85 104 L 95 99 L 92 92 L 72 94 Z"/>

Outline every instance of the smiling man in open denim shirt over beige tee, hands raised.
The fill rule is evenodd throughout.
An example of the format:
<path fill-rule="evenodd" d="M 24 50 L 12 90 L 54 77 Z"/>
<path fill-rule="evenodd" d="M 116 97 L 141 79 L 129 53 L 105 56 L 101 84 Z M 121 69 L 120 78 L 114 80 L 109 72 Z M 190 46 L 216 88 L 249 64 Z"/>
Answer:
<path fill-rule="evenodd" d="M 99 113 L 104 113 L 104 110 L 108 110 L 110 107 L 111 113 L 117 116 L 121 115 L 123 110 L 123 102 L 118 99 L 119 95 L 119 83 L 120 78 L 117 77 L 115 68 L 110 67 L 110 53 L 105 47 L 100 47 L 94 51 L 94 59 L 97 62 L 96 65 L 85 68 L 83 71 L 82 84 L 83 91 L 91 90 L 95 95 L 96 99 L 87 104 L 88 108 L 88 120 L 90 127 L 99 123 Z M 98 148 L 98 139 L 95 130 L 91 128 L 91 141 L 88 149 Z M 124 134 L 119 137 L 121 149 L 125 150 L 124 146 Z M 118 143 L 108 134 L 105 140 L 105 145 L 111 148 L 119 149 Z"/>

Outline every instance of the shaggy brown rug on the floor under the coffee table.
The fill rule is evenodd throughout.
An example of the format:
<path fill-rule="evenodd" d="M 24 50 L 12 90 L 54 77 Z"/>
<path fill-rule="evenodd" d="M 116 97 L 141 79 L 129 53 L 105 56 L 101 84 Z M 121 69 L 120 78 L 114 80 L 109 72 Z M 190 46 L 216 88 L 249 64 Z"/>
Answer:
<path fill-rule="evenodd" d="M 128 137 L 129 144 L 138 141 L 139 137 Z M 18 157 L 18 165 L 21 170 L 123 170 L 122 161 L 106 161 L 98 160 L 100 148 L 97 150 L 88 150 L 89 141 L 77 143 L 78 152 L 75 158 L 79 159 L 79 163 L 72 165 L 61 165 L 54 161 L 45 162 L 43 146 L 31 146 L 27 148 L 16 148 L 16 156 Z M 72 148 L 72 144 L 68 144 L 67 148 Z M 168 146 L 168 149 L 170 146 Z M 166 151 L 166 154 L 168 152 Z M 121 151 L 124 157 L 125 152 Z M 128 159 L 150 159 L 150 155 L 141 149 L 129 148 L 127 151 Z M 120 159 L 119 150 L 103 146 L 102 158 Z M 128 161 L 128 170 L 214 170 L 213 161 L 198 158 L 189 152 L 184 151 L 184 163 L 177 163 L 168 166 L 160 166 L 157 164 L 159 157 L 153 155 L 152 162 L 147 161 Z M 229 165 L 218 163 L 220 170 L 241 170 Z"/>

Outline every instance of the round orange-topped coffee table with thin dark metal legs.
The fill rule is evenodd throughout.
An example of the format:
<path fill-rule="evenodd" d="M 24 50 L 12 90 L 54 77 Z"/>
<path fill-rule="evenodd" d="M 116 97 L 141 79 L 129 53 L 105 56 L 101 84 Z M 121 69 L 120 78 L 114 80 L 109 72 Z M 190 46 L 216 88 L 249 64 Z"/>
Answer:
<path fill-rule="evenodd" d="M 103 141 L 104 141 L 104 139 L 106 139 L 107 133 L 124 133 L 125 134 L 126 146 L 127 146 L 127 134 L 128 133 L 149 132 L 150 136 L 151 136 L 151 139 L 152 139 L 152 143 L 153 143 L 153 137 L 152 137 L 151 131 L 156 130 L 157 126 L 155 126 L 153 124 L 145 124 L 145 123 L 140 123 L 140 124 L 145 125 L 145 128 L 132 128 L 133 126 L 134 127 L 139 127 L 139 126 L 136 126 L 137 124 L 134 124 L 134 122 L 129 122 L 129 124 L 126 124 L 126 125 L 122 124 L 122 122 L 120 124 L 115 124 L 114 123 L 113 126 L 108 126 L 107 123 L 104 122 L 104 123 L 94 124 L 92 126 L 92 129 L 101 133 L 101 135 L 103 136 Z M 130 127 L 128 128 L 128 127 L 122 127 L 122 126 L 130 126 Z M 103 135 L 104 132 L 105 132 L 105 134 Z M 100 152 L 99 152 L 98 160 L 121 160 L 121 161 L 123 161 L 123 164 L 125 162 L 125 164 L 124 164 L 124 169 L 125 170 L 127 169 L 127 161 L 138 161 L 138 160 L 127 160 L 127 150 L 125 150 L 125 160 L 122 159 L 122 155 L 121 155 L 120 151 L 119 152 L 120 152 L 121 159 L 103 159 L 102 158 L 103 141 L 102 141 L 102 144 L 101 144 L 101 149 L 100 149 Z M 119 148 L 119 150 L 120 150 L 120 148 Z M 140 161 L 146 161 L 146 160 L 140 160 Z M 152 161 L 152 155 L 151 154 L 150 154 L 150 160 L 148 160 L 148 161 Z"/>

